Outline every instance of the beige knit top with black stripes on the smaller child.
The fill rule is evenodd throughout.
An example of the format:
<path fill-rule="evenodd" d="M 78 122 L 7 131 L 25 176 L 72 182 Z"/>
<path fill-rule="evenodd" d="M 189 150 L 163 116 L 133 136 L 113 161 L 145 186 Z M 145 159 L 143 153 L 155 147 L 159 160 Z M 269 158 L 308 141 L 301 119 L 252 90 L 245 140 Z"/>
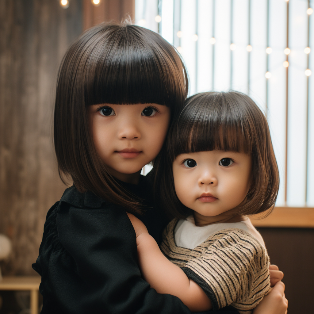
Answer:
<path fill-rule="evenodd" d="M 231 305 L 249 314 L 270 289 L 268 255 L 248 232 L 219 230 L 194 249 L 176 245 L 173 219 L 163 234 L 161 251 L 207 294 L 213 310 Z"/>

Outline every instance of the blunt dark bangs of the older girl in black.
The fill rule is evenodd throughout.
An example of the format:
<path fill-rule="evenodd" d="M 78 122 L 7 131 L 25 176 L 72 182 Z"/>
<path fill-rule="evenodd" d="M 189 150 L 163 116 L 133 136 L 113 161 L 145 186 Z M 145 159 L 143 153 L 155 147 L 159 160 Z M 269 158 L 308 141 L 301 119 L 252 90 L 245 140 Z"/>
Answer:
<path fill-rule="evenodd" d="M 175 49 L 160 35 L 133 25 L 109 25 L 100 26 L 99 33 L 88 40 L 92 51 L 87 52 L 86 62 L 87 106 L 182 105 L 187 95 L 186 72 Z"/>

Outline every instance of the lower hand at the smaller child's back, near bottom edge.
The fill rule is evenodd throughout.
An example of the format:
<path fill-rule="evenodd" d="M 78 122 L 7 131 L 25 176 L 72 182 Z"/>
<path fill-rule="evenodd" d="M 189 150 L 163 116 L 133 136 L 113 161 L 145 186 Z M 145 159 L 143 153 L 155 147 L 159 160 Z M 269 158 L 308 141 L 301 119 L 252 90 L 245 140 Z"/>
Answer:
<path fill-rule="evenodd" d="M 277 282 L 257 305 L 253 314 L 287 314 L 288 300 L 284 295 L 284 288 L 282 281 Z"/>

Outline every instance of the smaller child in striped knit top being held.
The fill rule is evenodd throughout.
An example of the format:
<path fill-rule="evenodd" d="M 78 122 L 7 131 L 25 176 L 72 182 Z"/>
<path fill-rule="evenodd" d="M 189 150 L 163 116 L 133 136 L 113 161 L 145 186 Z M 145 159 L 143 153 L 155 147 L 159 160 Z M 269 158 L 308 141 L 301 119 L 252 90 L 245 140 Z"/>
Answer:
<path fill-rule="evenodd" d="M 167 259 L 129 215 L 145 280 L 191 311 L 231 305 L 249 313 L 270 279 L 263 239 L 246 217 L 273 208 L 279 187 L 263 113 L 237 92 L 190 97 L 153 172 L 160 200 L 176 218 L 163 234 Z"/>

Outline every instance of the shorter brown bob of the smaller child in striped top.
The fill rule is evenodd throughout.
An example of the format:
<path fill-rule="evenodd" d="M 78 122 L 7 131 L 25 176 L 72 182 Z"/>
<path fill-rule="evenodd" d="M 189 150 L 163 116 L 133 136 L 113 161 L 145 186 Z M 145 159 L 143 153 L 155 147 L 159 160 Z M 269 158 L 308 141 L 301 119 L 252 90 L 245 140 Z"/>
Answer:
<path fill-rule="evenodd" d="M 279 189 L 279 172 L 265 116 L 247 95 L 207 92 L 189 97 L 173 122 L 166 145 L 154 161 L 155 195 L 172 217 L 192 210 L 176 196 L 172 164 L 184 153 L 225 150 L 252 157 L 251 187 L 237 214 L 272 210 Z"/>

